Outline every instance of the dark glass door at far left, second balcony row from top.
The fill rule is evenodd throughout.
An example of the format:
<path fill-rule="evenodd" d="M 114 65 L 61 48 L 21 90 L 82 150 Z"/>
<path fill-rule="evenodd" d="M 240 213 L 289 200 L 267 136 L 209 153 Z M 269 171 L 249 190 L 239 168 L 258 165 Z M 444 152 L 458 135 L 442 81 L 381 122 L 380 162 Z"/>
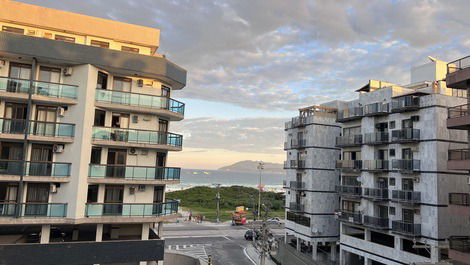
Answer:
<path fill-rule="evenodd" d="M 28 105 L 26 104 L 6 103 L 2 132 L 24 133 L 27 113 Z"/>

